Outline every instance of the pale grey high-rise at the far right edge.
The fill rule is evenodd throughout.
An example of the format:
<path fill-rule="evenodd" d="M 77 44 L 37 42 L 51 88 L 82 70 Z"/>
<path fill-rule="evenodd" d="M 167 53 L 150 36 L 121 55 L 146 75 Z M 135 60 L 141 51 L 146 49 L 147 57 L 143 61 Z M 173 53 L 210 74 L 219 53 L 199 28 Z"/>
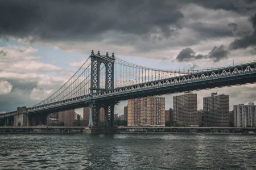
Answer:
<path fill-rule="evenodd" d="M 254 103 L 234 105 L 234 126 L 249 127 L 256 124 L 256 105 Z"/>

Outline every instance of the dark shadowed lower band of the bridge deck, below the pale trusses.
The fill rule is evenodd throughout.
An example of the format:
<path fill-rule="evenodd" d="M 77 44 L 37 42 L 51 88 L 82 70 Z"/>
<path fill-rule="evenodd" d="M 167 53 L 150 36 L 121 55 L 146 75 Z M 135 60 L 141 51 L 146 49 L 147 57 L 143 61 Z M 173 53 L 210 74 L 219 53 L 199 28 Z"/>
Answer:
<path fill-rule="evenodd" d="M 256 73 L 233 76 L 233 77 L 224 77 L 212 80 L 201 80 L 199 82 L 188 82 L 183 84 L 176 84 L 175 86 L 166 86 L 160 88 L 148 88 L 141 91 L 126 92 L 123 94 L 115 94 L 112 96 L 102 96 L 99 99 L 94 99 L 93 102 L 96 104 L 106 104 L 106 103 L 118 103 L 118 101 L 135 99 L 139 97 L 147 96 L 158 96 L 166 94 L 176 94 L 186 91 L 196 91 L 196 90 L 205 90 L 210 88 L 220 88 L 228 86 L 237 86 L 242 84 L 250 84 L 256 82 Z M 139 97 L 138 97 L 139 96 Z M 79 101 L 76 103 L 67 103 L 65 105 L 55 106 L 51 108 L 44 108 L 41 110 L 30 111 L 29 114 L 41 114 L 41 113 L 54 113 L 65 111 L 69 109 L 77 109 L 82 107 L 89 107 L 88 101 Z"/>

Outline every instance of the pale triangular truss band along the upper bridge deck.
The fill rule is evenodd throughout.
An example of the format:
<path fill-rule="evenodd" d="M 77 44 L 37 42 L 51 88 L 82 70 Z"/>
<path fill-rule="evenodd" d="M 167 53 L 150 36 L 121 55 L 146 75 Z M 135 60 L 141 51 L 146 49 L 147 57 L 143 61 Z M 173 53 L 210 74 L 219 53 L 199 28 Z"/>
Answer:
<path fill-rule="evenodd" d="M 27 108 L 27 112 L 35 112 L 35 111 L 39 111 L 39 110 L 43 110 L 51 107 L 58 107 L 62 105 L 77 103 L 79 101 L 83 101 L 86 103 L 87 101 L 99 99 L 100 97 L 103 97 L 103 96 L 113 96 L 117 94 L 124 94 L 124 93 L 133 92 L 133 91 L 148 90 L 151 88 L 160 88 L 165 86 L 176 86 L 177 84 L 191 83 L 191 82 L 210 80 L 210 79 L 218 79 L 218 78 L 224 78 L 226 76 L 250 74 L 250 73 L 255 73 L 255 71 L 256 71 L 256 62 L 250 62 L 244 65 L 224 67 L 222 69 L 217 69 L 217 70 L 215 69 L 212 71 L 207 70 L 199 73 L 192 73 L 188 75 L 181 75 L 181 76 L 175 76 L 175 77 L 166 78 L 166 79 L 160 79 L 153 82 L 144 82 L 141 84 L 133 84 L 131 86 L 119 87 L 119 88 L 115 88 L 114 90 L 93 94 L 93 96 L 82 95 L 78 97 L 73 97 L 71 99 L 55 101 L 53 103 L 48 103 L 43 105 L 37 105 L 36 107 Z M 0 118 L 12 116 L 15 114 L 16 114 L 16 111 L 0 114 Z"/>

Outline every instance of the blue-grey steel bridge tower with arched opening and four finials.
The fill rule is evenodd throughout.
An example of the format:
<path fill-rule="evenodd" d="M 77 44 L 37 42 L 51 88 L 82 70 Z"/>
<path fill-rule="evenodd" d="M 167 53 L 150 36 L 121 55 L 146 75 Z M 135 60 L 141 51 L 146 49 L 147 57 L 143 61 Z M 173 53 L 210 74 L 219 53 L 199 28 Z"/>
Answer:
<path fill-rule="evenodd" d="M 105 56 L 100 54 L 98 51 L 97 54 L 94 54 L 92 50 L 92 54 L 90 54 L 91 59 L 91 78 L 90 78 L 90 95 L 96 94 L 100 91 L 108 91 L 114 89 L 114 62 L 115 56 L 112 53 L 112 56 L 109 56 L 108 52 L 106 52 Z M 105 65 L 105 87 L 100 87 L 100 71 L 101 64 Z M 103 81 L 104 82 L 104 81 Z M 105 109 L 105 126 L 113 126 L 114 125 L 114 103 L 108 101 L 107 103 L 95 103 L 92 101 L 89 104 L 90 112 L 89 112 L 89 125 L 93 126 L 93 122 L 95 122 L 95 126 L 99 125 L 100 122 L 100 108 L 104 107 Z"/>

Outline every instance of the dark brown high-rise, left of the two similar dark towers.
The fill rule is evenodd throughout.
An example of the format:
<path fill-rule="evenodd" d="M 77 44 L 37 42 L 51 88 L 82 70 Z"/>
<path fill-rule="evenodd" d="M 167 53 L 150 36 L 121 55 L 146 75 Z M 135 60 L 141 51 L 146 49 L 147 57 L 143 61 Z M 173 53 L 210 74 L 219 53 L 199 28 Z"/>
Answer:
<path fill-rule="evenodd" d="M 197 95 L 187 92 L 174 96 L 174 121 L 181 121 L 185 126 L 198 125 Z"/>

